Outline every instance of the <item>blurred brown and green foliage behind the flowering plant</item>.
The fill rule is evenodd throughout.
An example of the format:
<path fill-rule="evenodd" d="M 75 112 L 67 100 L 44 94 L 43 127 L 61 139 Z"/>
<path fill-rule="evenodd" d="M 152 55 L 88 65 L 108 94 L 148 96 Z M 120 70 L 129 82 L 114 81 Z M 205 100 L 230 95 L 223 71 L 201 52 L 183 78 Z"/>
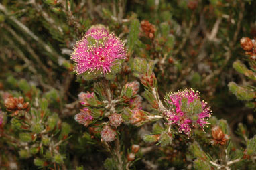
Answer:
<path fill-rule="evenodd" d="M 253 0 L 1 0 L 0 90 L 15 90 L 25 97 L 31 95 L 27 84 L 32 84 L 45 98 L 52 98 L 50 110 L 72 126 L 66 164 L 101 169 L 99 161 L 107 155 L 99 146 L 88 145 L 82 138 L 85 128 L 74 122 L 77 95 L 91 90 L 92 82 L 77 78 L 70 61 L 76 41 L 91 25 L 101 23 L 123 39 L 128 58 L 153 60 L 160 98 L 180 88 L 200 91 L 241 143 L 234 135 L 238 123 L 243 122 L 252 137 L 256 116 L 229 92 L 227 84 L 255 86 L 233 68 L 237 59 L 247 64 L 239 40 L 256 37 L 255 8 Z M 1 151 L 9 157 L 13 154 Z M 151 154 L 168 164 L 164 159 L 170 153 Z M 136 166 L 140 169 L 141 163 Z"/>

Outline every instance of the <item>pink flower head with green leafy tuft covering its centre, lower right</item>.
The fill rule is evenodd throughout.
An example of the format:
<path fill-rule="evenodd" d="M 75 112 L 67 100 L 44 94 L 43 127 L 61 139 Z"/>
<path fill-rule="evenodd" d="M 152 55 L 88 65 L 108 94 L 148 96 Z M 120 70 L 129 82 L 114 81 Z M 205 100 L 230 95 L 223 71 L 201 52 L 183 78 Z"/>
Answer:
<path fill-rule="evenodd" d="M 166 100 L 174 106 L 166 116 L 171 124 L 179 126 L 180 133 L 184 131 L 186 135 L 190 135 L 192 127 L 196 124 L 204 130 L 212 111 L 206 106 L 206 102 L 200 100 L 199 92 L 193 89 L 179 90 L 168 94 Z"/>

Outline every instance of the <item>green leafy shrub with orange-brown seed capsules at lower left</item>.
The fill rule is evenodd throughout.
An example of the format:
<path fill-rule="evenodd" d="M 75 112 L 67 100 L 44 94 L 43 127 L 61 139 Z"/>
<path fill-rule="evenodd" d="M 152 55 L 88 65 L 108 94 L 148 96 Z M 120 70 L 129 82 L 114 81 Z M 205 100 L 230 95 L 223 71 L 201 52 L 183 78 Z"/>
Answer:
<path fill-rule="evenodd" d="M 0 92 L 3 101 L 0 111 L 1 140 L 11 146 L 21 160 L 32 158 L 34 165 L 40 168 L 66 169 L 63 145 L 71 129 L 58 114 L 48 109 L 56 94 L 49 92 L 41 96 L 40 90 L 25 81 L 20 80 L 17 84 L 25 96 L 18 92 Z M 4 161 L 6 165 L 21 166 L 14 160 Z"/>

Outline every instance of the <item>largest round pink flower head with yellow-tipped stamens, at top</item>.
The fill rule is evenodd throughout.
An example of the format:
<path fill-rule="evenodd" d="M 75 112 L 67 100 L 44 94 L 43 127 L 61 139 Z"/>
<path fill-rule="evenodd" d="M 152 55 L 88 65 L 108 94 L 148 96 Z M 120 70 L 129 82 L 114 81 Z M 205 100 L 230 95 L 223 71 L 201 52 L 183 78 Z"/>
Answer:
<path fill-rule="evenodd" d="M 94 26 L 76 43 L 71 59 L 78 75 L 87 71 L 108 74 L 125 55 L 123 42 L 118 37 L 103 26 Z"/>

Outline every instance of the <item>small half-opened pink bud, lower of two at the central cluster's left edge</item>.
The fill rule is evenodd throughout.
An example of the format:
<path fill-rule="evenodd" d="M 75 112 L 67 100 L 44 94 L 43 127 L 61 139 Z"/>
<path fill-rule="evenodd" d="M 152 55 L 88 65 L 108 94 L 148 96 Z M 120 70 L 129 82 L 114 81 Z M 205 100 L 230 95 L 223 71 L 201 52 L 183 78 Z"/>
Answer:
<path fill-rule="evenodd" d="M 88 108 L 83 108 L 80 111 L 80 113 L 74 116 L 74 120 L 76 120 L 76 122 L 78 122 L 79 124 L 88 126 L 90 122 L 93 120 L 92 115 L 90 115 L 90 110 L 88 110 Z"/>

